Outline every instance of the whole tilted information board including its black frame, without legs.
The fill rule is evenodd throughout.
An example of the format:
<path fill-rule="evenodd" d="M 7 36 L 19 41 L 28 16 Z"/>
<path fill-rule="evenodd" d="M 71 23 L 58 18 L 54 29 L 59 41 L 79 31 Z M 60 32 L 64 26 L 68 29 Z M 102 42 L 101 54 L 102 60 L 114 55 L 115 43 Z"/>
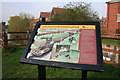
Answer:
<path fill-rule="evenodd" d="M 103 71 L 99 22 L 38 22 L 20 62 Z"/>

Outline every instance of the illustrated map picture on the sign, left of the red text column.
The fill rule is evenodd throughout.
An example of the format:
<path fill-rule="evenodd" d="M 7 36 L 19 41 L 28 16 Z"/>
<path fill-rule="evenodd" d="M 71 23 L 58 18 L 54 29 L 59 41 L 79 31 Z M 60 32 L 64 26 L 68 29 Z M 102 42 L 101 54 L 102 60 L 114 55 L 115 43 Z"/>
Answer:
<path fill-rule="evenodd" d="M 27 58 L 80 63 L 80 37 L 81 29 L 39 28 Z"/>

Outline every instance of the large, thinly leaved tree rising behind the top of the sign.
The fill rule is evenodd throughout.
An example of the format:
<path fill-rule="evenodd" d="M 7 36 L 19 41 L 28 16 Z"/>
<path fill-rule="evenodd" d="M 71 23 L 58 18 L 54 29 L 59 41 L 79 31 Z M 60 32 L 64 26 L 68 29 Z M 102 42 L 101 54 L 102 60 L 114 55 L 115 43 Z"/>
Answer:
<path fill-rule="evenodd" d="M 91 4 L 85 2 L 70 2 L 64 6 L 65 10 L 56 13 L 52 21 L 94 21 L 98 20 L 98 14 L 91 8 Z"/>

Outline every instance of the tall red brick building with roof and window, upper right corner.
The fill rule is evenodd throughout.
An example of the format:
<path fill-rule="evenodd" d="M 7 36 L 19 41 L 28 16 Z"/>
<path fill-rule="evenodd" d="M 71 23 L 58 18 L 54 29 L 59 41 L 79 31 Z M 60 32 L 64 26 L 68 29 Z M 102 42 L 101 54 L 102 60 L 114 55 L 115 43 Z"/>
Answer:
<path fill-rule="evenodd" d="M 106 32 L 118 34 L 120 30 L 120 0 L 111 0 L 107 4 Z"/>

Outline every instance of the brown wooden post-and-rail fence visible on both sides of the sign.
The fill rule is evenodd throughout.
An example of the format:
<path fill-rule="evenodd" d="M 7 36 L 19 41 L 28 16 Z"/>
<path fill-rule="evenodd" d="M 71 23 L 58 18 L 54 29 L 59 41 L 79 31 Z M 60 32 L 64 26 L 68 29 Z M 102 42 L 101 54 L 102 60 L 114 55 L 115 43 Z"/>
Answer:
<path fill-rule="evenodd" d="M 8 48 L 14 48 L 14 47 L 20 47 L 20 46 L 26 46 L 26 45 L 14 45 L 14 46 L 8 46 L 8 41 L 16 41 L 16 40 L 26 40 L 26 43 L 28 42 L 28 39 L 29 39 L 29 36 L 30 36 L 30 33 L 31 31 L 20 31 L 20 32 L 0 32 L 2 33 L 3 35 L 3 39 L 0 39 L 0 41 L 3 41 L 3 46 L 0 45 L 0 47 L 4 48 L 4 55 L 6 55 L 8 53 Z M 26 37 L 23 38 L 23 39 L 8 39 L 8 36 L 7 34 L 26 34 Z M 105 38 L 105 39 L 114 39 L 114 40 L 120 40 L 120 37 L 115 37 L 115 36 L 106 36 L 106 35 L 101 35 L 102 38 Z M 120 51 L 119 50 L 113 50 L 113 49 L 107 49 L 107 48 L 103 48 L 103 52 L 104 51 L 107 51 L 107 52 L 111 52 L 113 54 L 118 54 L 118 56 L 120 56 Z M 104 55 L 104 53 L 103 53 Z M 120 57 L 118 57 L 118 60 L 120 60 Z M 115 66 L 118 66 L 120 67 L 120 64 L 119 64 L 119 61 L 118 63 L 114 63 L 114 62 L 111 62 L 111 61 L 106 61 L 104 60 L 105 63 L 108 63 L 108 64 L 112 64 L 112 65 L 115 65 Z"/>

